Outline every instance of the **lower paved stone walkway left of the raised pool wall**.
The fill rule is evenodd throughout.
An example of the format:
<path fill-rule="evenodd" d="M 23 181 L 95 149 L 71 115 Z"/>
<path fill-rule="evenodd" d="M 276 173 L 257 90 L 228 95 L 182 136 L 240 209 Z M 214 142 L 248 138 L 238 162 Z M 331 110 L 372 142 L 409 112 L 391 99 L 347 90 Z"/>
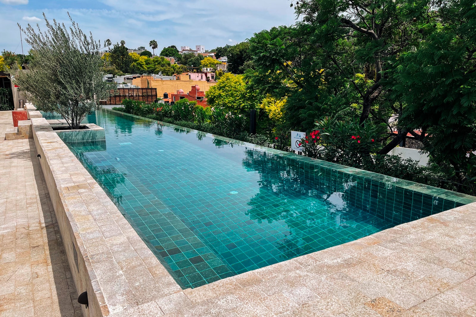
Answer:
<path fill-rule="evenodd" d="M 0 316 L 82 316 L 32 139 L 0 112 Z"/>

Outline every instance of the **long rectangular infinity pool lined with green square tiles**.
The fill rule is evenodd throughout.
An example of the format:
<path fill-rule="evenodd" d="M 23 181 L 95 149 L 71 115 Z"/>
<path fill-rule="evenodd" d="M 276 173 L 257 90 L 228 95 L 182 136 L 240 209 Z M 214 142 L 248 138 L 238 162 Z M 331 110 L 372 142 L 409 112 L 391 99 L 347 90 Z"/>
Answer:
<path fill-rule="evenodd" d="M 114 111 L 96 119 L 105 142 L 69 148 L 182 288 L 474 201 Z"/>

